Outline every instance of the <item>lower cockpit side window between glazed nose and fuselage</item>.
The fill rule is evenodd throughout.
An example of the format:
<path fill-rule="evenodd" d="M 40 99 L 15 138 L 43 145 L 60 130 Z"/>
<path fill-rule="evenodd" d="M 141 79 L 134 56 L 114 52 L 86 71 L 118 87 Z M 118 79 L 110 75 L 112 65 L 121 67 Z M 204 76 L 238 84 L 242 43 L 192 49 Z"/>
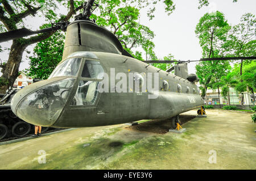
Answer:
<path fill-rule="evenodd" d="M 98 82 L 96 81 L 80 81 L 71 105 L 83 106 L 94 104 L 98 94 L 97 85 Z"/>

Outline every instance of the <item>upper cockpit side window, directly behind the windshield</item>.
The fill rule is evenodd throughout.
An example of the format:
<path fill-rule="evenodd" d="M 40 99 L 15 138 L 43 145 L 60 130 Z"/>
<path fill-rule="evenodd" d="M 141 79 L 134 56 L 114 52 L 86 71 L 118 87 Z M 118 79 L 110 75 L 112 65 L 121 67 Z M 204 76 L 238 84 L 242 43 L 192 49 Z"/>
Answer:
<path fill-rule="evenodd" d="M 84 64 L 84 69 L 82 70 L 81 77 L 84 78 L 103 78 L 104 69 L 102 68 L 100 62 L 86 60 Z"/>

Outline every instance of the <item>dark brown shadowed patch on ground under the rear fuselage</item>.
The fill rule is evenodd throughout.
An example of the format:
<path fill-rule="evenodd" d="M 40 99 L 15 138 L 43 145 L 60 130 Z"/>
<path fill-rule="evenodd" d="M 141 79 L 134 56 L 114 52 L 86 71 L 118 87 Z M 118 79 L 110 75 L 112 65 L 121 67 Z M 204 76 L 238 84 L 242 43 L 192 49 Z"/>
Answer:
<path fill-rule="evenodd" d="M 180 115 L 181 125 L 187 123 L 188 121 L 194 119 L 196 115 Z M 126 127 L 125 129 L 130 129 L 133 131 L 144 131 L 150 133 L 166 134 L 171 129 L 171 118 L 150 120 L 144 123 Z"/>

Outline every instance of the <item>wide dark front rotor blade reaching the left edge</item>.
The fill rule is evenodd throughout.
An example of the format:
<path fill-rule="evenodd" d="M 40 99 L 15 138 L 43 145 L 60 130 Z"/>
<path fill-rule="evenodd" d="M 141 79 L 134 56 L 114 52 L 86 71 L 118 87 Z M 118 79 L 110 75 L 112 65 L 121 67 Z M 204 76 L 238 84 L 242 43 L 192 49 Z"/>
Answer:
<path fill-rule="evenodd" d="M 13 40 L 13 39 L 18 39 L 20 37 L 30 36 L 30 35 L 34 35 L 37 33 L 43 33 L 43 32 L 48 32 L 48 31 L 52 31 L 52 27 L 44 28 L 44 29 L 38 30 L 38 31 L 31 31 L 31 30 L 28 30 L 27 28 L 20 28 L 18 30 L 0 33 L 0 43 L 3 41 L 9 41 L 9 40 Z"/>

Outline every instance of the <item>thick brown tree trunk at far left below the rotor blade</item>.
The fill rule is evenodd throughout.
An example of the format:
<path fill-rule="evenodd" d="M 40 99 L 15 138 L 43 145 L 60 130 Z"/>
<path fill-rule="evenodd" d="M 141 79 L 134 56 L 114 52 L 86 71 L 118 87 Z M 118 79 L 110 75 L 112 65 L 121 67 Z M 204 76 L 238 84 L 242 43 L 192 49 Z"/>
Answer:
<path fill-rule="evenodd" d="M 0 93 L 5 93 L 8 87 L 13 87 L 13 83 L 15 79 L 18 77 L 19 73 L 19 65 L 22 61 L 22 54 L 28 45 L 24 45 L 20 43 L 20 39 L 13 40 L 13 44 L 11 45 L 9 59 L 6 63 L 4 69 L 2 69 L 3 75 L 1 78 L 7 79 L 7 85 L 0 85 Z"/>

